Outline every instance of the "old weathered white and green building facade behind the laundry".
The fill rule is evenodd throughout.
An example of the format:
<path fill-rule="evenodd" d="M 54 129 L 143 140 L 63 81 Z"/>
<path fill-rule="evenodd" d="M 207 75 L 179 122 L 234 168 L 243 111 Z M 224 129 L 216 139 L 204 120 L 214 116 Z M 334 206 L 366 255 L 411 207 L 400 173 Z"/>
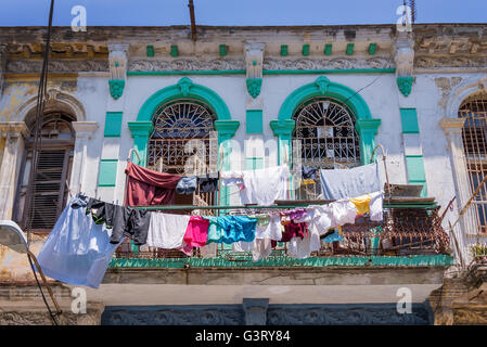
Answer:
<path fill-rule="evenodd" d="M 436 228 L 437 242 L 403 255 L 335 254 L 293 265 L 232 261 L 215 249 L 183 266 L 119 255 L 102 287 L 88 290 L 90 319 L 66 322 L 485 323 L 482 257 L 472 250 L 485 244 L 485 190 L 460 211 L 485 172 L 486 26 L 197 30 L 192 40 L 187 26 L 54 28 L 38 167 L 49 179 L 36 182 L 28 172 L 46 30 L 0 30 L 0 219 L 24 228 L 34 201 L 35 253 L 69 195 L 123 204 L 129 155 L 177 174 L 188 163 L 210 172 L 291 164 L 297 153 L 306 165 L 333 168 L 380 158 L 377 145 L 389 183 L 422 187 L 422 198 L 402 207 L 446 211 L 440 226 L 421 231 Z M 29 184 L 43 189 L 27 196 Z M 238 204 L 231 189 L 219 195 L 177 203 Z M 296 187 L 291 200 L 318 195 Z M 448 244 L 440 250 L 439 239 Z M 34 293 L 26 260 L 0 252 L 0 299 L 9 303 L 0 322 L 39 322 L 25 313 L 43 312 L 39 303 L 12 304 Z M 401 287 L 413 296 L 406 316 L 396 310 Z M 69 310 L 66 286 L 57 293 Z"/>

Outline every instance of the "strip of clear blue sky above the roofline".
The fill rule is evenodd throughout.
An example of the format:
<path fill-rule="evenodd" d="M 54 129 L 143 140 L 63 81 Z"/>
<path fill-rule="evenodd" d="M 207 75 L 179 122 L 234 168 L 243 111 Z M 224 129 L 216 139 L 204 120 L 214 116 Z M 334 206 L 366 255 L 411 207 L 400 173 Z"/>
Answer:
<path fill-rule="evenodd" d="M 47 25 L 50 0 L 0 0 L 0 26 Z M 194 0 L 201 25 L 390 24 L 402 0 Z M 74 5 L 88 26 L 188 25 L 188 0 L 56 0 L 53 25 Z M 416 23 L 487 23 L 487 0 L 416 0 Z"/>

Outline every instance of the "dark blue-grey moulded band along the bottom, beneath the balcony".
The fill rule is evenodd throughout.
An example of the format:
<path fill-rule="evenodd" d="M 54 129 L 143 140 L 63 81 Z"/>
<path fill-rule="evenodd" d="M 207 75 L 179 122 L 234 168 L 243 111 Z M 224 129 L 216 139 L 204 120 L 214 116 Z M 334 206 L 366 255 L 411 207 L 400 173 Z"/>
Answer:
<path fill-rule="evenodd" d="M 166 306 L 153 309 L 107 308 L 102 316 L 106 325 L 350 325 L 350 324 L 431 324 L 426 304 L 412 304 L 411 314 L 397 312 L 396 304 L 357 305 L 241 305 Z M 259 299 L 257 299 L 259 300 Z M 268 300 L 268 299 L 267 299 Z M 257 305 L 255 305 L 257 304 Z"/>

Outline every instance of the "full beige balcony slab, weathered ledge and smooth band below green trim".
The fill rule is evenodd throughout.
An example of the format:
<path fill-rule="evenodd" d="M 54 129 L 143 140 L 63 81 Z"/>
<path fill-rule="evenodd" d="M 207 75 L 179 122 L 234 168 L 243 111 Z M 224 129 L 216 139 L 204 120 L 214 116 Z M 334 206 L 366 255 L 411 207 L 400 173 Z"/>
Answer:
<path fill-rule="evenodd" d="M 112 268 L 90 300 L 105 306 L 397 303 L 407 287 L 424 303 L 445 267 Z"/>

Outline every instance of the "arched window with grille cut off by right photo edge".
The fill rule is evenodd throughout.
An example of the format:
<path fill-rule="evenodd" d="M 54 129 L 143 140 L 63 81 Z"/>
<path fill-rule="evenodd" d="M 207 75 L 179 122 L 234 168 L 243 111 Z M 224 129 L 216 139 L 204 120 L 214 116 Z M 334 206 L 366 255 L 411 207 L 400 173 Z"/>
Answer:
<path fill-rule="evenodd" d="M 487 93 L 475 93 L 465 99 L 459 110 L 459 117 L 465 118 L 462 129 L 463 151 L 471 193 L 487 174 Z M 480 232 L 487 232 L 487 187 L 484 185 L 473 201 Z"/>

